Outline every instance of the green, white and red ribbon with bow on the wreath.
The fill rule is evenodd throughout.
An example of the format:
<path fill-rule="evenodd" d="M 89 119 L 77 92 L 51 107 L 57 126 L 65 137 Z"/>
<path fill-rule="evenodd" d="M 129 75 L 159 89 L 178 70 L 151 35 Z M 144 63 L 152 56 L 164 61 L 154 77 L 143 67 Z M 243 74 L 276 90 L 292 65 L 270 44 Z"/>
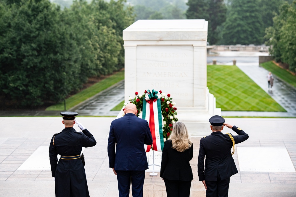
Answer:
<path fill-rule="evenodd" d="M 161 114 L 161 104 L 160 93 L 155 91 L 152 92 L 147 90 L 147 93 L 143 99 L 143 109 L 142 118 L 147 120 L 149 123 L 149 128 L 153 139 L 153 150 L 162 152 L 164 142 L 163 142 L 163 125 L 162 125 L 162 114 Z M 146 152 L 149 152 L 151 145 L 145 145 Z"/>

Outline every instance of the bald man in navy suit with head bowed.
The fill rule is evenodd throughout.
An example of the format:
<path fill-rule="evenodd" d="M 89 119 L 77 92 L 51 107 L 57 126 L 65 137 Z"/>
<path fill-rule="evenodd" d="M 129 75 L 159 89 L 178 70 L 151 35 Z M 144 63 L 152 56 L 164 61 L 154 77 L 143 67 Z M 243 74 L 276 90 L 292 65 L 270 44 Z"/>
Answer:
<path fill-rule="evenodd" d="M 148 122 L 136 116 L 135 104 L 128 103 L 124 113 L 110 126 L 109 167 L 117 175 L 119 197 L 128 197 L 131 185 L 133 197 L 141 197 L 148 169 L 144 144 L 152 144 L 152 135 Z"/>

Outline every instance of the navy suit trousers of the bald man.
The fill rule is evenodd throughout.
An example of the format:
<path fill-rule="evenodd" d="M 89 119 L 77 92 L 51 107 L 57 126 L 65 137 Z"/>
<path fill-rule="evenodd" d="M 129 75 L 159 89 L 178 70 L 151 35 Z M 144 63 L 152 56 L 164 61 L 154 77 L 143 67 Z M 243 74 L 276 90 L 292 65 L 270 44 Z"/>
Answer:
<path fill-rule="evenodd" d="M 116 170 L 119 197 L 129 197 L 129 191 L 133 197 L 143 196 L 145 170 Z"/>

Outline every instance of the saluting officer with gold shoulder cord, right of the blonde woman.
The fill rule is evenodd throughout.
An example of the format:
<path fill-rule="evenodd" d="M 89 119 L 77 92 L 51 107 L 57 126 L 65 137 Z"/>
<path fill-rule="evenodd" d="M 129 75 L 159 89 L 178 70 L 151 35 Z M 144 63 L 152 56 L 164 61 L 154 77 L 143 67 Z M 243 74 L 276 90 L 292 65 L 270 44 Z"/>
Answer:
<path fill-rule="evenodd" d="M 209 122 L 211 135 L 200 139 L 198 179 L 204 184 L 207 197 L 227 197 L 229 179 L 238 173 L 230 150 L 233 149 L 234 153 L 234 144 L 247 140 L 249 136 L 241 128 L 224 123 L 224 118 L 219 115 L 211 117 Z M 238 135 L 223 134 L 223 126 L 231 128 Z"/>

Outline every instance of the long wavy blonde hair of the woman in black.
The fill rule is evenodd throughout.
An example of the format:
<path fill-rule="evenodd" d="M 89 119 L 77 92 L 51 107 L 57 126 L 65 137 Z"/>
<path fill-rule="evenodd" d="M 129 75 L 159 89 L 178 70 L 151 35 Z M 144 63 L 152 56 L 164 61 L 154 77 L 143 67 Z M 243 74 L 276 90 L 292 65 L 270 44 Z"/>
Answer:
<path fill-rule="evenodd" d="M 188 130 L 184 123 L 178 121 L 173 125 L 173 131 L 170 135 L 172 148 L 178 152 L 184 152 L 192 146 Z"/>

